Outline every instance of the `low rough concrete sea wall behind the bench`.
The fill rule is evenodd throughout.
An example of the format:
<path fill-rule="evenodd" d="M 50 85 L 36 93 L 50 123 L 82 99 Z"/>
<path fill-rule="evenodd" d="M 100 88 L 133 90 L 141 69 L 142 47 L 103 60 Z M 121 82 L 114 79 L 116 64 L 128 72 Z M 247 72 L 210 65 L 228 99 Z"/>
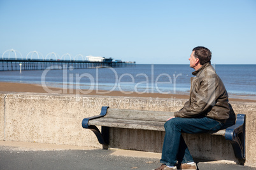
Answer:
<path fill-rule="evenodd" d="M 85 117 L 98 115 L 102 106 L 135 110 L 176 111 L 185 100 L 109 96 L 2 93 L 0 95 L 0 140 L 28 141 L 102 148 Z M 246 166 L 256 167 L 256 104 L 231 102 L 236 114 L 246 114 Z M 164 133 L 110 129 L 110 147 L 161 152 Z M 194 157 L 236 160 L 231 144 L 222 136 L 185 134 Z"/>

